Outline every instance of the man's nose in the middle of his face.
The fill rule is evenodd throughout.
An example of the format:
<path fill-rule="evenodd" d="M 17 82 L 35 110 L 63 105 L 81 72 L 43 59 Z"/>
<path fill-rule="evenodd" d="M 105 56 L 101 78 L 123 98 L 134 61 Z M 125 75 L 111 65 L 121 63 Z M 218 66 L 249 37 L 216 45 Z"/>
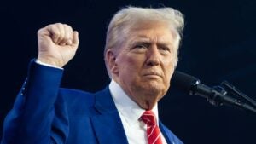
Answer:
<path fill-rule="evenodd" d="M 157 66 L 160 65 L 160 52 L 157 46 L 151 46 L 147 51 L 147 65 Z"/>

